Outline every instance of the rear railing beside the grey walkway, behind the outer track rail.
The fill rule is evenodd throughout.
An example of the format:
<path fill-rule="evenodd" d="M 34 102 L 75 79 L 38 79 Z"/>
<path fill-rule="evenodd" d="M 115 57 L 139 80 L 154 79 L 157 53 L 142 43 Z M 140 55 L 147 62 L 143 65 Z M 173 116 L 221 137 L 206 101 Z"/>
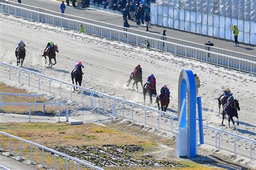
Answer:
<path fill-rule="evenodd" d="M 123 26 L 118 26 L 118 25 L 113 25 L 113 24 L 109 24 L 109 23 L 99 22 L 97 20 L 92 20 L 92 19 L 72 16 L 72 15 L 68 15 L 68 14 L 63 14 L 63 13 L 60 13 L 60 12 L 50 11 L 50 10 L 47 10 L 47 9 L 37 8 L 35 6 L 20 4 L 20 3 L 16 3 L 16 2 L 10 2 L 10 1 L 5 1 L 5 0 L 1 0 L 1 1 L 4 2 L 4 3 L 8 3 L 8 4 L 11 4 L 11 5 L 19 6 L 19 7 L 22 7 L 22 8 L 26 8 L 26 9 L 30 9 L 30 10 L 34 10 L 34 11 L 38 11 L 38 12 L 49 13 L 49 14 L 55 15 L 55 16 L 63 16 L 65 18 L 75 19 L 75 20 L 79 20 L 79 21 L 82 21 L 82 22 L 85 22 L 85 23 L 91 23 L 91 24 L 95 24 L 95 25 L 110 27 L 111 29 L 124 30 Z M 254 55 L 234 52 L 234 51 L 230 51 L 230 50 L 223 49 L 223 48 L 205 46 L 204 44 L 198 44 L 196 42 L 190 42 L 190 41 L 181 40 L 181 39 L 177 39 L 177 38 L 173 38 L 173 37 L 163 37 L 159 34 L 145 32 L 145 31 L 139 31 L 139 30 L 136 30 L 136 29 L 131 29 L 131 28 L 125 28 L 125 29 L 127 29 L 127 32 L 135 33 L 135 34 L 146 36 L 146 37 L 151 37 L 151 38 L 156 38 L 156 39 L 166 38 L 166 41 L 169 41 L 169 42 L 174 42 L 174 43 L 177 43 L 177 44 L 196 47 L 196 48 L 200 48 L 200 49 L 209 49 L 209 51 L 213 51 L 213 52 L 216 52 L 216 53 L 219 53 L 219 54 L 225 54 L 225 55 L 235 56 L 236 58 L 256 61 L 256 56 L 254 56 Z M 193 52 L 193 51 L 190 51 L 190 49 L 187 49 L 187 54 L 190 54 L 191 52 Z M 178 54 L 181 55 L 181 56 L 184 56 L 183 52 L 178 52 Z M 255 72 L 255 70 L 254 70 L 254 72 Z"/>

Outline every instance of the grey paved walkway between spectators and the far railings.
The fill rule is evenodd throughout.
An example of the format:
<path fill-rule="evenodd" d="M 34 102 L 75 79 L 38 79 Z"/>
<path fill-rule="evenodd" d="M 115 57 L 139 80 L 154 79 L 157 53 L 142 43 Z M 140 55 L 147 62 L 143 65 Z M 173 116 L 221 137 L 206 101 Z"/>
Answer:
<path fill-rule="evenodd" d="M 10 1 L 17 2 L 17 0 L 10 0 Z M 51 11 L 60 12 L 60 2 L 56 2 L 54 0 L 52 0 L 52 1 L 22 0 L 22 3 L 27 4 L 27 5 L 37 6 L 39 8 L 48 9 Z M 95 10 L 95 9 L 91 9 L 91 8 L 89 8 L 89 9 L 80 9 L 80 8 L 73 9 L 73 8 L 67 6 L 65 13 L 74 15 L 74 16 L 98 20 L 101 22 L 109 23 L 109 24 L 123 26 L 123 17 L 121 15 L 110 13 L 110 12 L 99 11 L 99 10 Z M 137 30 L 142 30 L 142 31 L 146 30 L 144 26 L 136 26 L 135 22 L 129 21 L 129 24 L 132 29 L 137 29 Z M 157 34 L 161 34 L 161 32 L 163 32 L 163 30 L 166 30 L 167 31 L 166 36 L 168 36 L 168 37 L 197 42 L 199 44 L 205 44 L 207 42 L 207 40 L 210 40 L 211 42 L 213 42 L 214 47 L 224 48 L 224 49 L 228 49 L 231 51 L 241 52 L 241 53 L 250 54 L 250 55 L 256 55 L 256 47 L 251 47 L 251 46 L 246 46 L 246 45 L 241 45 L 240 47 L 234 47 L 233 42 L 208 38 L 208 37 L 204 37 L 204 36 L 198 36 L 198 35 L 192 34 L 192 33 L 186 33 L 186 32 L 182 32 L 182 31 L 176 31 L 176 30 L 166 29 L 166 28 L 157 27 L 157 26 L 150 26 L 149 30 L 150 30 L 150 32 L 157 33 Z"/>

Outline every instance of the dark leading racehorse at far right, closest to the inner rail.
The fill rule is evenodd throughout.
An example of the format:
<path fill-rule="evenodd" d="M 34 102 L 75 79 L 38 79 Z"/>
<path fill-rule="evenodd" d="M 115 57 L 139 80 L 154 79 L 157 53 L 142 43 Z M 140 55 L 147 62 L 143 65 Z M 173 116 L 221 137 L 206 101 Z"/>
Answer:
<path fill-rule="evenodd" d="M 233 125 L 234 125 L 234 120 L 233 120 L 233 117 L 236 117 L 237 118 L 237 125 L 239 125 L 239 120 L 238 120 L 238 113 L 237 111 L 240 110 L 240 107 L 239 107 L 239 103 L 238 103 L 239 100 L 234 100 L 232 102 L 232 104 L 230 105 L 230 108 L 228 108 L 227 111 L 225 111 L 225 107 L 227 104 L 224 104 L 223 106 L 223 112 L 222 112 L 222 123 L 223 124 L 223 121 L 224 121 L 224 118 L 225 118 L 225 114 L 227 114 L 228 116 L 228 126 L 230 126 L 230 120 L 233 122 Z M 234 129 L 235 128 L 235 125 L 234 125 Z"/>

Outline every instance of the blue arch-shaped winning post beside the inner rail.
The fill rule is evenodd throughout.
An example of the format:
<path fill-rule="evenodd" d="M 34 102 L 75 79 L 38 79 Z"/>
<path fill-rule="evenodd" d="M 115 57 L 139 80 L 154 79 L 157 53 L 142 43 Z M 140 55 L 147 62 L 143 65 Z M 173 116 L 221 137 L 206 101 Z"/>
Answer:
<path fill-rule="evenodd" d="M 187 156 L 190 158 L 196 157 L 197 154 L 196 97 L 196 82 L 192 70 L 182 70 L 179 76 L 178 108 L 180 116 L 182 102 L 187 98 L 187 106 L 185 105 L 183 110 L 180 128 L 187 128 Z"/>

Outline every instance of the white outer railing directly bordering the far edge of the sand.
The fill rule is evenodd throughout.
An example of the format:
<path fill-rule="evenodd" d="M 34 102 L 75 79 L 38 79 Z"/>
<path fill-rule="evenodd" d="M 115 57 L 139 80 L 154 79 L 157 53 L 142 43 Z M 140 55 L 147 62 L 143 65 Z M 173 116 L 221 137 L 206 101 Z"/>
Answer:
<path fill-rule="evenodd" d="M 139 46 L 145 43 L 145 39 L 150 41 L 151 47 L 156 51 L 162 50 L 166 53 L 172 53 L 174 55 L 184 56 L 186 58 L 203 61 L 206 64 L 210 63 L 216 67 L 223 66 L 227 69 L 237 69 L 242 72 L 255 74 L 255 57 L 251 56 L 252 60 L 240 59 L 234 56 L 220 54 L 217 52 L 207 51 L 206 49 L 200 49 L 187 45 L 181 45 L 174 42 L 164 41 L 157 38 L 147 37 L 136 33 L 131 33 L 122 30 L 111 29 L 105 26 L 99 26 L 82 22 L 75 19 L 64 18 L 61 16 L 54 16 L 48 13 L 33 11 L 18 6 L 0 3 L 0 9 L 4 13 L 23 17 L 26 19 L 37 20 L 50 25 L 60 26 L 68 30 L 79 30 L 79 24 L 82 23 L 85 27 L 85 32 L 89 34 L 95 34 L 101 38 L 108 38 L 110 40 L 118 40 L 126 42 L 127 44 L 134 44 Z M 208 57 L 209 56 L 209 57 Z"/>

